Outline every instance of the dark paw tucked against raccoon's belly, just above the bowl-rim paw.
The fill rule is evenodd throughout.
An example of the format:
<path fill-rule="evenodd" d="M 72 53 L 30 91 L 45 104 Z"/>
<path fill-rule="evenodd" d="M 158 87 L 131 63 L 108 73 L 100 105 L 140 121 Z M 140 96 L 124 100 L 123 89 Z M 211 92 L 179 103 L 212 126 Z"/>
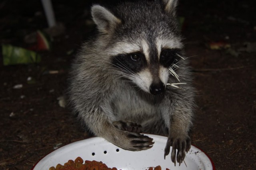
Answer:
<path fill-rule="evenodd" d="M 114 121 L 113 125 L 122 131 L 140 133 L 142 130 L 141 125 L 139 125 L 138 123 L 134 123 L 132 121 Z"/>

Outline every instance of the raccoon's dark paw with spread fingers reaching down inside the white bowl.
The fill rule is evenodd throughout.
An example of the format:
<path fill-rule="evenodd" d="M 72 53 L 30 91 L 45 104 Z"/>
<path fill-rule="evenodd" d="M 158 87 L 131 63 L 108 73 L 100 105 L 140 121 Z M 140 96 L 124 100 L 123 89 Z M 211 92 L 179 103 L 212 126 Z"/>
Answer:
<path fill-rule="evenodd" d="M 172 162 L 174 162 L 174 165 L 176 165 L 176 159 L 179 165 L 182 163 L 186 156 L 186 152 L 191 147 L 191 140 L 188 135 L 184 135 L 183 137 L 168 137 L 166 147 L 164 149 L 164 159 L 165 156 L 170 153 L 170 147 L 172 146 L 172 153 L 171 153 L 171 159 Z M 177 156 L 176 156 L 176 149 L 177 151 Z"/>

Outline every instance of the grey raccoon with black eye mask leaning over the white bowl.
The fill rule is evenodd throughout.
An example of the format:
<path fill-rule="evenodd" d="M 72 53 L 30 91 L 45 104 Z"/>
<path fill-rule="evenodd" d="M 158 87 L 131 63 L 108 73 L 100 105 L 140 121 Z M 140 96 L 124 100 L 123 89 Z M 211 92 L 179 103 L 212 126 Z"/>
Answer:
<path fill-rule="evenodd" d="M 164 158 L 172 146 L 174 164 L 190 149 L 195 106 L 176 6 L 177 0 L 93 5 L 98 32 L 72 63 L 69 88 L 72 108 L 91 133 L 134 151 L 154 144 L 140 133 L 166 135 Z"/>

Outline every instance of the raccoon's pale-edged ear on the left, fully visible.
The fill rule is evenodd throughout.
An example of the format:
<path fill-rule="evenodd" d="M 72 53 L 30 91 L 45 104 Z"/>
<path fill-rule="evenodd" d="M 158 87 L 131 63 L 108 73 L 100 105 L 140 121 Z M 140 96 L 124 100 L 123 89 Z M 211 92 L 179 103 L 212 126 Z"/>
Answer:
<path fill-rule="evenodd" d="M 100 5 L 92 6 L 92 20 L 96 23 L 98 30 L 102 33 L 110 32 L 116 25 L 121 23 L 120 19 Z"/>

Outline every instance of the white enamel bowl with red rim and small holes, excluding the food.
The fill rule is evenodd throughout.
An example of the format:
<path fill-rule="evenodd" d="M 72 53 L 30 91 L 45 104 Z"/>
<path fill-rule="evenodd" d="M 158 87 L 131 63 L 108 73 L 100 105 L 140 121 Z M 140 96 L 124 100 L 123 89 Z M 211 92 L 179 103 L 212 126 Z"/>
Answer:
<path fill-rule="evenodd" d="M 211 159 L 200 149 L 191 146 L 184 162 L 180 166 L 171 161 L 170 154 L 164 159 L 164 147 L 167 137 L 145 134 L 154 139 L 151 149 L 142 151 L 124 150 L 101 137 L 92 137 L 76 141 L 54 150 L 34 165 L 32 170 L 49 170 L 51 166 L 64 164 L 68 160 L 75 160 L 80 156 L 85 160 L 102 161 L 109 168 L 118 170 L 146 170 L 148 167 L 158 166 L 162 170 L 215 170 Z M 172 149 L 170 149 L 172 150 Z"/>

